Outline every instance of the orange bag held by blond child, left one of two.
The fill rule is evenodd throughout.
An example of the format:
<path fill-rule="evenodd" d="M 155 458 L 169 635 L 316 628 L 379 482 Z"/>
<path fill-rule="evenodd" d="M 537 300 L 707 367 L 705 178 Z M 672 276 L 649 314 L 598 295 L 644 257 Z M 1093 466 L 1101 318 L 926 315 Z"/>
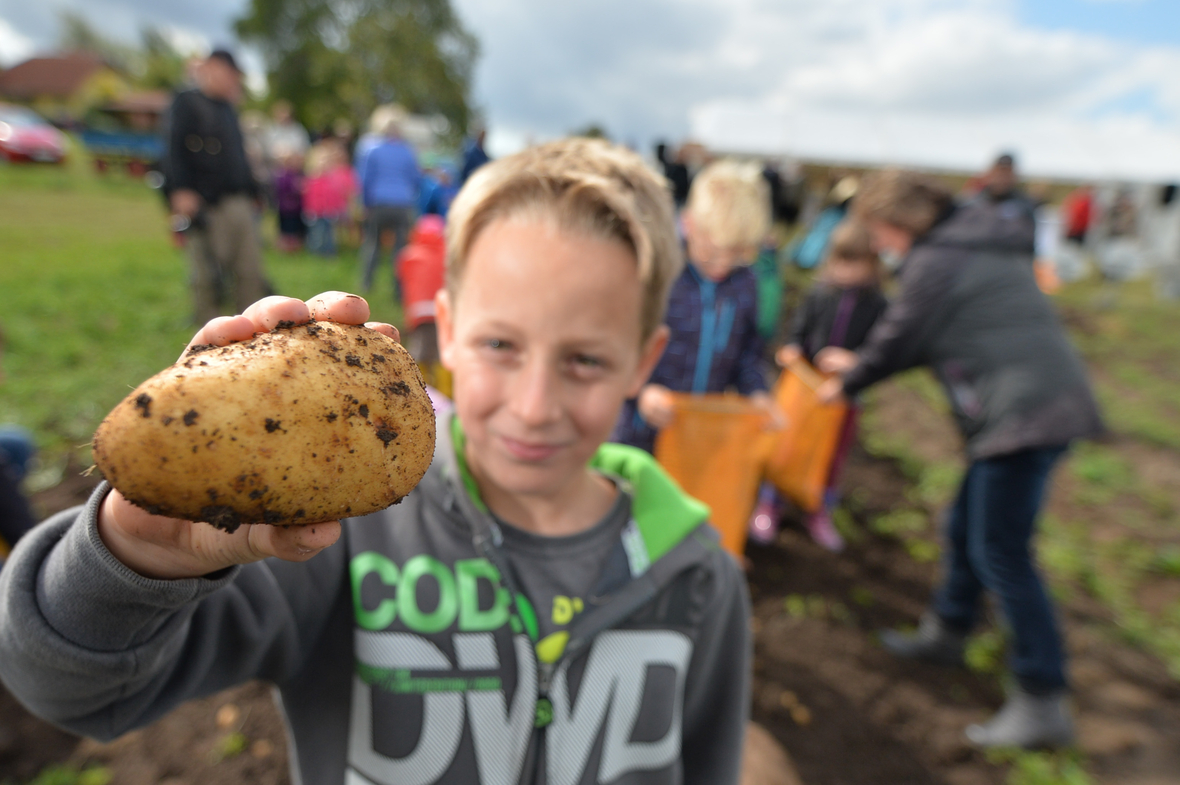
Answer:
<path fill-rule="evenodd" d="M 740 395 L 674 393 L 676 419 L 656 436 L 656 460 L 713 511 L 721 544 L 740 557 L 758 499 L 758 445 L 767 414 Z"/>

